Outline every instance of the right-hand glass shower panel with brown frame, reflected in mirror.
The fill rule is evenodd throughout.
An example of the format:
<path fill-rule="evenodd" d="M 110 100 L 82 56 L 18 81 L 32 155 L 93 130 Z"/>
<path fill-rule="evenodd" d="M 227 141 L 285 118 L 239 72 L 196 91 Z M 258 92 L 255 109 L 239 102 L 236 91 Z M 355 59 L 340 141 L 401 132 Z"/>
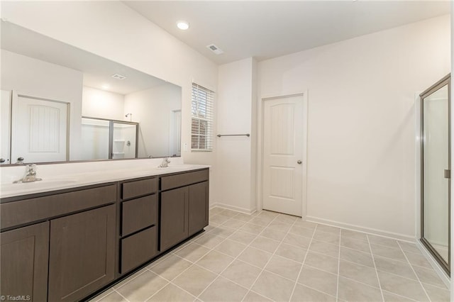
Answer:
<path fill-rule="evenodd" d="M 112 158 L 136 157 L 137 126 L 114 122 Z"/>

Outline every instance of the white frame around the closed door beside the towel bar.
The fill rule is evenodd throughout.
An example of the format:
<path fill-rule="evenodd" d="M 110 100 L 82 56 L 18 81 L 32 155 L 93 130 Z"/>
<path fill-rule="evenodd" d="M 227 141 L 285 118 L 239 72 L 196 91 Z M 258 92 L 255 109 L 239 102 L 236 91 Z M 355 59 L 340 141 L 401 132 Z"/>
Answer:
<path fill-rule="evenodd" d="M 264 133 L 264 114 L 265 114 L 265 101 L 271 100 L 271 99 L 282 99 L 282 98 L 288 98 L 292 96 L 302 96 L 302 106 L 303 106 L 303 133 L 302 133 L 302 138 L 301 140 L 303 141 L 303 147 L 302 147 L 302 157 L 301 160 L 303 161 L 302 164 L 302 189 L 303 189 L 303 194 L 302 194 L 302 200 L 301 200 L 301 218 L 306 219 L 306 200 L 307 200 L 307 141 L 308 141 L 308 97 L 307 97 L 307 89 L 304 89 L 302 91 L 297 91 L 294 93 L 288 93 L 288 94 L 270 94 L 270 95 L 264 95 L 260 97 L 260 101 L 258 102 L 258 141 L 257 141 L 257 146 L 258 146 L 258 152 L 257 152 L 257 208 L 258 211 L 261 211 L 263 209 L 263 160 L 264 160 L 264 145 L 263 145 L 263 135 Z"/>

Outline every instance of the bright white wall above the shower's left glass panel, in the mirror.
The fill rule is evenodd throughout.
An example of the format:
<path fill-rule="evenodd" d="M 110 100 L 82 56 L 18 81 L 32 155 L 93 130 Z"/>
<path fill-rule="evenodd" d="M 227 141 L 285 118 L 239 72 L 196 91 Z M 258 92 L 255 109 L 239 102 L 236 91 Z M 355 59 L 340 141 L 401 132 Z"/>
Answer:
<path fill-rule="evenodd" d="M 125 96 L 111 91 L 84 86 L 82 116 L 123 121 Z"/>

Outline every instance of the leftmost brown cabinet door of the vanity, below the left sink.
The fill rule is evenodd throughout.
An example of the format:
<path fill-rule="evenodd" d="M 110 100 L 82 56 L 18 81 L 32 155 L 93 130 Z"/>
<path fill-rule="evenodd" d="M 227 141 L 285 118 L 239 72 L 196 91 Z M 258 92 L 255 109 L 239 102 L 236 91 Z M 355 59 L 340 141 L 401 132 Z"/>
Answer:
<path fill-rule="evenodd" d="M 1 233 L 0 242 L 1 295 L 47 301 L 49 222 Z"/>

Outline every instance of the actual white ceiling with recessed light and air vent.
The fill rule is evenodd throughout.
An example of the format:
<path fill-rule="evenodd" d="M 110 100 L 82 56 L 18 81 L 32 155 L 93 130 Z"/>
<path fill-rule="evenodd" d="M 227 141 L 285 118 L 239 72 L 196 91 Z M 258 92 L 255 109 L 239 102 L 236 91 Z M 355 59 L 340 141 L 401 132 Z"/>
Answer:
<path fill-rule="evenodd" d="M 217 64 L 265 60 L 450 13 L 450 1 L 123 1 Z M 182 31 L 176 22 L 189 22 Z M 223 54 L 206 46 L 215 44 Z"/>

